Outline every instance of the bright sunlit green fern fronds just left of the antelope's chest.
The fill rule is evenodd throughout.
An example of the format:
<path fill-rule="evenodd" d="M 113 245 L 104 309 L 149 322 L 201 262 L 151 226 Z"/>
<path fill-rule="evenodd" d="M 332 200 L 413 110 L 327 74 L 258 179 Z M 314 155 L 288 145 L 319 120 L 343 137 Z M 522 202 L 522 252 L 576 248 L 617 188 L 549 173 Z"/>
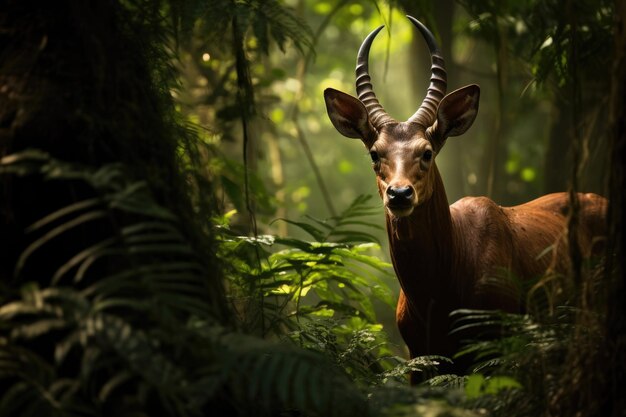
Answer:
<path fill-rule="evenodd" d="M 389 274 L 389 265 L 366 252 L 376 247 L 361 216 L 371 214 L 369 197 L 360 197 L 341 215 L 328 221 L 285 220 L 308 233 L 314 241 L 262 235 L 237 236 L 222 227 L 222 259 L 231 265 L 232 289 L 261 300 L 252 316 L 263 323 L 261 332 L 293 329 L 300 318 L 333 317 L 335 312 L 355 315 L 373 324 L 370 297 L 393 305 L 377 273 Z M 286 247 L 270 251 L 274 245 Z M 236 295 L 235 295 L 236 297 Z M 306 303 L 314 300 L 314 303 Z M 255 301 L 252 301 L 255 303 Z M 252 306 L 248 305 L 246 309 Z"/>

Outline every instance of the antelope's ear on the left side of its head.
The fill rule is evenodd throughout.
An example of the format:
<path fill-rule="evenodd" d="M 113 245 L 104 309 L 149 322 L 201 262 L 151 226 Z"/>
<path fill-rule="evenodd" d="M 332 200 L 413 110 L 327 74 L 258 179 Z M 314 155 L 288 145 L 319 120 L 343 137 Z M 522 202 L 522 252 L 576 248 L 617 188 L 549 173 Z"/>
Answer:
<path fill-rule="evenodd" d="M 334 88 L 324 90 L 324 100 L 328 117 L 339 133 L 362 139 L 366 145 L 376 140 L 376 130 L 360 100 Z"/>

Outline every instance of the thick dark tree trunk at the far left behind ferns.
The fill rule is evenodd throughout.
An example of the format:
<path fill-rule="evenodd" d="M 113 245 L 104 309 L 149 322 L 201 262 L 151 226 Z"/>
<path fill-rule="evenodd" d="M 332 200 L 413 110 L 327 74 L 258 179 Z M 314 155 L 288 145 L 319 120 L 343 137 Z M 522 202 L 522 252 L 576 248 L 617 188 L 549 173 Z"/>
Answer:
<path fill-rule="evenodd" d="M 149 32 L 161 24 L 151 15 L 158 12 L 155 5 L 133 15 L 107 0 L 0 2 L 0 158 L 36 148 L 90 169 L 121 163 L 182 219 L 178 226 L 196 249 L 215 253 L 199 233 L 208 225 L 196 223 L 189 178 L 180 168 L 179 149 L 191 147 L 192 139 L 184 143 L 184 129 L 174 121 L 168 90 L 173 80 L 163 75 L 170 57 L 156 46 L 164 39 L 148 35 L 158 33 Z M 148 27 L 151 18 L 157 23 Z M 24 282 L 14 282 L 13 275 L 19 254 L 34 239 L 26 228 L 91 195 L 77 182 L 54 186 L 43 178 L 0 173 L 0 281 Z M 94 233 L 112 231 L 104 226 Z M 62 262 L 62 254 L 97 239 L 89 233 L 75 238 L 56 245 L 57 253 L 48 253 L 25 279 L 49 283 L 50 268 Z M 216 270 L 212 255 L 204 260 Z M 221 277 L 209 280 L 211 301 L 226 318 Z"/>

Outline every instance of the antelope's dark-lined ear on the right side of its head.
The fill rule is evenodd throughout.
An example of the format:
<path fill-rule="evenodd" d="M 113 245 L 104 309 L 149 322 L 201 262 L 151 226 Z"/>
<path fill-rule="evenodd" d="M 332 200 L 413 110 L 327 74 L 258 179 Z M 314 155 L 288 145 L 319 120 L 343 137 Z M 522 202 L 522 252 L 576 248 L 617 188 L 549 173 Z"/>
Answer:
<path fill-rule="evenodd" d="M 446 95 L 439 103 L 437 121 L 433 130 L 440 140 L 462 135 L 470 128 L 478 114 L 480 87 L 466 85 Z"/>

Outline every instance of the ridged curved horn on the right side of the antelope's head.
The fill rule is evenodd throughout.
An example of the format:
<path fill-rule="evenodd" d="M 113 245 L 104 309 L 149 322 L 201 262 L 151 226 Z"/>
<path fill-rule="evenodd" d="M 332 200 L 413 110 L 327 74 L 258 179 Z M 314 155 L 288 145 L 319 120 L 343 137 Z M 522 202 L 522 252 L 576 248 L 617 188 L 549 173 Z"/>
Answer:
<path fill-rule="evenodd" d="M 437 117 L 437 107 L 441 102 L 441 99 L 446 95 L 446 89 L 448 86 L 447 76 L 446 76 L 446 68 L 443 57 L 441 56 L 441 52 L 439 51 L 439 47 L 437 46 L 437 41 L 435 41 L 435 37 L 428 30 L 426 26 L 422 24 L 419 20 L 414 18 L 413 16 L 407 16 L 411 22 L 415 25 L 416 28 L 419 29 L 422 36 L 426 40 L 428 44 L 428 49 L 430 51 L 430 86 L 428 86 L 428 91 L 426 92 L 426 97 L 424 101 L 420 105 L 419 109 L 415 112 L 413 116 L 409 118 L 409 122 L 417 123 L 422 126 L 430 126 L 435 123 L 435 119 Z"/>

